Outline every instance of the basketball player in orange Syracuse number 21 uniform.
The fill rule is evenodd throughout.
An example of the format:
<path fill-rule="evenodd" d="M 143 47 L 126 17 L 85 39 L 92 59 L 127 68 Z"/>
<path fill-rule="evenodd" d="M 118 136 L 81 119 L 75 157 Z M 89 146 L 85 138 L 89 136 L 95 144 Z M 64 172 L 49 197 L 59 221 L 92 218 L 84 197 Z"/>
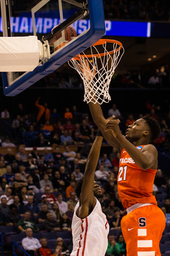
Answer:
<path fill-rule="evenodd" d="M 87 60 L 86 65 L 90 71 Z M 79 68 L 88 76 L 85 69 Z M 152 195 L 158 152 L 150 144 L 159 137 L 160 126 L 146 115 L 130 125 L 124 137 L 117 119 L 107 121 L 98 103 L 88 105 L 104 138 L 120 154 L 117 184 L 122 205 L 128 213 L 121 221 L 127 256 L 160 256 L 159 241 L 165 228 L 165 216 Z"/>

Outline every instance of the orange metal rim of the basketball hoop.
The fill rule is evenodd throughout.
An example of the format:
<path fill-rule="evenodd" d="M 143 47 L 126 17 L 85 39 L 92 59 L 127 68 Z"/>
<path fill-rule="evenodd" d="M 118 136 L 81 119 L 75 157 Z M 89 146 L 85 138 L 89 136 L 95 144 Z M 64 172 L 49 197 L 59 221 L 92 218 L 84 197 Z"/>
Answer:
<path fill-rule="evenodd" d="M 88 54 L 86 55 L 87 58 L 92 58 L 92 57 L 101 57 L 104 55 L 108 55 L 108 54 L 112 54 L 114 52 L 120 51 L 120 49 L 122 48 L 122 43 L 117 41 L 117 40 L 112 40 L 112 39 L 99 39 L 99 41 L 97 41 L 95 44 L 92 44 L 92 46 L 100 46 L 101 44 L 105 44 L 105 43 L 113 43 L 113 44 L 118 44 L 118 48 L 114 49 L 113 51 L 109 51 L 109 52 L 103 52 L 103 53 L 96 53 L 96 54 Z M 73 59 L 75 60 L 80 60 L 81 57 L 84 57 L 83 54 L 79 54 L 76 55 Z"/>

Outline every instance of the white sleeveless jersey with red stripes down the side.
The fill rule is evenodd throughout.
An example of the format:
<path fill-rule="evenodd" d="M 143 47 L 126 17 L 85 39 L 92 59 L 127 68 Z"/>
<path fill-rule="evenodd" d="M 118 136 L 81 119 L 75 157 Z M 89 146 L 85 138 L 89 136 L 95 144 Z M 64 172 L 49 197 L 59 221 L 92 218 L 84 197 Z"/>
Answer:
<path fill-rule="evenodd" d="M 109 224 L 101 210 L 99 200 L 96 199 L 95 208 L 86 218 L 74 216 L 71 225 L 73 234 L 73 251 L 70 256 L 104 256 L 108 247 Z"/>

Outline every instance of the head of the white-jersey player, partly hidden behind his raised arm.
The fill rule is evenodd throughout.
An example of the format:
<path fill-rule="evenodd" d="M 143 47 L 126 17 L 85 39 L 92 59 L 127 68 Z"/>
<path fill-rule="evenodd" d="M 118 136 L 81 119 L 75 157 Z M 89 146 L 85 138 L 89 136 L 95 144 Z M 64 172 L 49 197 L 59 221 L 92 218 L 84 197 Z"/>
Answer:
<path fill-rule="evenodd" d="M 80 193 L 82 192 L 82 185 L 83 185 L 83 178 L 80 179 L 78 181 L 78 183 L 76 183 L 75 185 L 75 195 L 78 197 L 78 199 L 80 198 Z M 97 181 L 94 181 L 94 196 L 97 199 L 103 198 L 103 193 L 101 192 L 101 188 L 99 187 L 99 184 L 97 183 Z"/>

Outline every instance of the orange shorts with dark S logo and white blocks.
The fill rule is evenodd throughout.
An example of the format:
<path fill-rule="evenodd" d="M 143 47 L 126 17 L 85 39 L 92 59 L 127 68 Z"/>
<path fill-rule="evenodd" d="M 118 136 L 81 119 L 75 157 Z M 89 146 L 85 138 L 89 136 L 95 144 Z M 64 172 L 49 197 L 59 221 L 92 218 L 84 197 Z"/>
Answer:
<path fill-rule="evenodd" d="M 165 216 L 157 205 L 132 210 L 121 220 L 127 256 L 161 256 L 159 241 L 165 229 Z"/>

